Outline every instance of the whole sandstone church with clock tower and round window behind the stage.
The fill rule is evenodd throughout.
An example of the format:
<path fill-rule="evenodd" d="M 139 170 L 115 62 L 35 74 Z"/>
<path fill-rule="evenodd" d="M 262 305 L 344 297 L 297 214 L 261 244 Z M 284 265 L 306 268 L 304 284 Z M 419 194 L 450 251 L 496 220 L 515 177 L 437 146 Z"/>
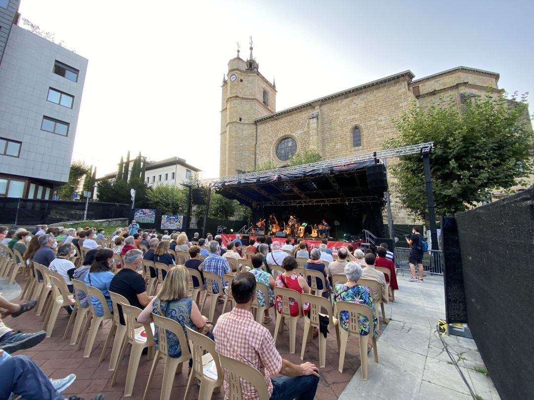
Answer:
<path fill-rule="evenodd" d="M 485 93 L 490 86 L 500 92 L 499 74 L 489 71 L 457 67 L 414 79 L 407 70 L 277 111 L 276 84 L 260 73 L 252 50 L 247 60 L 239 53 L 231 59 L 223 79 L 221 177 L 271 160 L 284 166 L 303 149 L 316 149 L 323 159 L 381 150 L 396 134 L 394 120 L 414 101 L 424 107 L 453 95 L 460 102 L 462 94 Z M 417 222 L 395 206 L 392 214 L 396 224 Z"/>

